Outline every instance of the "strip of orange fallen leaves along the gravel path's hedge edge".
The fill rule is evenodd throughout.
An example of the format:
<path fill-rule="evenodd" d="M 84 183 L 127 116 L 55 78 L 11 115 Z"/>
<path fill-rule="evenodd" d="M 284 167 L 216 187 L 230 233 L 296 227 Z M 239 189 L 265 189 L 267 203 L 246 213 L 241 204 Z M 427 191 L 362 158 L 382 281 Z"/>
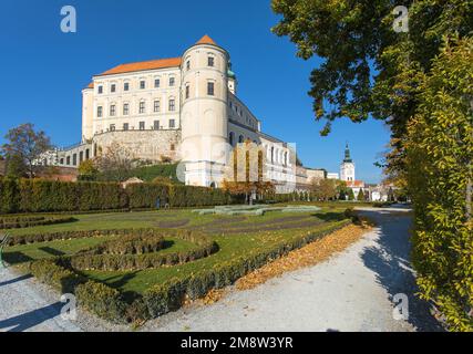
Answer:
<path fill-rule="evenodd" d="M 236 282 L 236 288 L 253 289 L 285 272 L 320 263 L 358 241 L 370 229 L 368 225 L 349 225 L 248 273 Z"/>

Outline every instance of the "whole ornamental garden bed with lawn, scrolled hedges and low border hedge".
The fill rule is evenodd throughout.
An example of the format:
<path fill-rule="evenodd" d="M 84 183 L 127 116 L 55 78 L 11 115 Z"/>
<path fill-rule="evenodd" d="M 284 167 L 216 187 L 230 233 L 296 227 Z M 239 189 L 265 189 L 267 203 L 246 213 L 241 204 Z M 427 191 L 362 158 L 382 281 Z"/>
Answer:
<path fill-rule="evenodd" d="M 79 304 L 107 321 L 143 321 L 230 285 L 269 261 L 351 222 L 342 210 L 336 215 L 330 210 L 307 214 L 313 219 L 309 227 L 298 225 L 300 219 L 296 219 L 290 229 L 263 228 L 279 219 L 280 223 L 288 222 L 292 216 L 300 214 L 275 211 L 245 219 L 199 216 L 189 210 L 76 216 L 78 222 L 71 226 L 41 226 L 33 228 L 34 232 L 13 230 L 4 259 L 21 264 L 62 293 L 74 293 Z M 240 232 L 209 235 L 213 221 L 222 218 L 235 218 L 233 230 L 240 225 Z M 160 219 L 189 222 L 187 229 L 152 228 Z M 225 231 L 225 223 L 216 225 Z M 247 231 L 248 225 L 255 228 Z"/>

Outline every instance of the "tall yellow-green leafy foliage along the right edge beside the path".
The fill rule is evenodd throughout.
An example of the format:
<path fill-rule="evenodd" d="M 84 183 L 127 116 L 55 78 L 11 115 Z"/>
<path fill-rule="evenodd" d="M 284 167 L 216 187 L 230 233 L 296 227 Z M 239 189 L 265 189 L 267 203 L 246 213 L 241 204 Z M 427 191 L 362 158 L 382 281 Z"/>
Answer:
<path fill-rule="evenodd" d="M 449 42 L 408 128 L 414 264 L 422 296 L 452 330 L 473 331 L 473 39 Z"/>

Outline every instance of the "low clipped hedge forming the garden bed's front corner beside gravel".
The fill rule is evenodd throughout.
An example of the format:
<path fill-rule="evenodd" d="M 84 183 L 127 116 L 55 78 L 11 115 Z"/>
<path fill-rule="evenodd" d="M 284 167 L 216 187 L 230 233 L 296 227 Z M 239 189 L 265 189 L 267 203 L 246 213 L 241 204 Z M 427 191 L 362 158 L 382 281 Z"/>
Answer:
<path fill-rule="evenodd" d="M 265 251 L 250 252 L 183 279 L 171 279 L 165 283 L 152 287 L 143 296 L 136 296 L 133 301 L 126 301 L 120 291 L 106 284 L 86 280 L 76 274 L 69 268 L 69 260 L 64 257 L 34 261 L 30 264 L 30 270 L 40 281 L 62 292 L 75 293 L 79 304 L 95 315 L 111 322 L 126 323 L 157 317 L 177 310 L 186 298 L 195 300 L 204 296 L 212 289 L 230 285 L 267 262 L 349 223 L 349 220 L 339 221 L 289 242 L 268 246 Z M 193 237 L 196 235 L 193 233 Z"/>

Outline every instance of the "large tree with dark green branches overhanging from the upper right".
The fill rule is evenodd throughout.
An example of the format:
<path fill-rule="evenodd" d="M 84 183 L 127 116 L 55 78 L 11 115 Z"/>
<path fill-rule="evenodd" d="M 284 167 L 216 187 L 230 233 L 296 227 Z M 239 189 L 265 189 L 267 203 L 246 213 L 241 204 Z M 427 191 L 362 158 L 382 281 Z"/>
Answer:
<path fill-rule="evenodd" d="M 322 63 L 310 76 L 316 119 L 369 116 L 391 127 L 393 149 L 387 165 L 404 168 L 407 124 L 414 115 L 420 83 L 440 53 L 442 39 L 466 37 L 473 27 L 471 0 L 408 0 L 409 32 L 393 30 L 393 2 L 354 0 L 273 0 L 282 17 L 273 28 L 297 45 L 297 55 Z M 330 111 L 326 110 L 330 106 Z"/>

